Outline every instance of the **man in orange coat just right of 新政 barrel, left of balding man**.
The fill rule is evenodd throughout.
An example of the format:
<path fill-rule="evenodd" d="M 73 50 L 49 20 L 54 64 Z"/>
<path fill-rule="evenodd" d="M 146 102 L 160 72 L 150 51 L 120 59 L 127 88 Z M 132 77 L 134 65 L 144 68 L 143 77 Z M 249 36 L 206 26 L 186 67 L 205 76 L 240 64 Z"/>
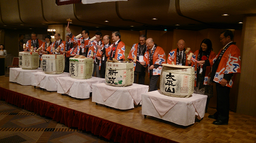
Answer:
<path fill-rule="evenodd" d="M 137 76 L 139 75 L 139 84 L 144 84 L 145 81 L 145 67 L 143 67 L 140 62 L 143 62 L 143 57 L 144 57 L 144 53 L 146 51 L 146 36 L 145 35 L 141 35 L 139 37 L 139 43 L 134 44 L 128 59 L 130 60 L 130 62 L 134 62 L 134 83 L 136 83 L 137 81 Z M 136 61 L 139 62 L 136 62 Z"/>

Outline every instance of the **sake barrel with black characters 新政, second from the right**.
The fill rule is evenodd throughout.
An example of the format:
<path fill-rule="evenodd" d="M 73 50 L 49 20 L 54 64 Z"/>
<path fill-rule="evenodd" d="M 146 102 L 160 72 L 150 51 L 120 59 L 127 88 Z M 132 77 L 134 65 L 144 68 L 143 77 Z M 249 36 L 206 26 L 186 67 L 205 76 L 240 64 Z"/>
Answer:
<path fill-rule="evenodd" d="M 115 87 L 126 87 L 133 84 L 134 68 L 133 63 L 106 62 L 105 81 Z"/>

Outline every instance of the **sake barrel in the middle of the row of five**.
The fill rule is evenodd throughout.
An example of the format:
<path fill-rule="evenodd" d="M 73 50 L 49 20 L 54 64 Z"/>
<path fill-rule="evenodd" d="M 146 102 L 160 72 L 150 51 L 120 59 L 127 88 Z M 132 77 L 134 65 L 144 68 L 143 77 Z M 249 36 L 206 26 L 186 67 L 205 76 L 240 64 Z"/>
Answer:
<path fill-rule="evenodd" d="M 83 55 L 69 59 L 69 72 L 72 78 L 88 79 L 93 74 L 93 59 L 87 59 Z"/>

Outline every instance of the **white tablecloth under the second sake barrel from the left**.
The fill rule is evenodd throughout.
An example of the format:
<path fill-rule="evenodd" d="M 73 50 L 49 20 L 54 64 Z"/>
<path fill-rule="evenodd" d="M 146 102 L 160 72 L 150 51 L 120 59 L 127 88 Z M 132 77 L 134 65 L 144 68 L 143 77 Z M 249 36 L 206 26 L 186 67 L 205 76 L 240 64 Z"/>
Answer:
<path fill-rule="evenodd" d="M 46 74 L 45 72 L 32 73 L 31 85 L 46 89 L 47 91 L 57 91 L 57 77 L 70 76 L 70 73 Z"/>

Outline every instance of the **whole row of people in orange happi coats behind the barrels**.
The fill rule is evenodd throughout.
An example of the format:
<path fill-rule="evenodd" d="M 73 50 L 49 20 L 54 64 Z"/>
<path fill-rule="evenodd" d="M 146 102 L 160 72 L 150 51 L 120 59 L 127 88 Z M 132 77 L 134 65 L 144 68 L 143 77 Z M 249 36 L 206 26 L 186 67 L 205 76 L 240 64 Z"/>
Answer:
<path fill-rule="evenodd" d="M 69 72 L 69 58 L 75 55 L 84 55 L 87 58 L 94 59 L 94 71 L 96 76 L 105 78 L 106 60 L 125 61 L 125 44 L 121 41 L 119 32 L 112 33 L 113 43 L 110 42 L 110 36 L 105 35 L 102 40 L 102 33 L 96 32 L 96 39 L 90 41 L 89 31 L 83 30 L 82 36 L 76 38 L 67 27 L 66 40 L 62 41 L 60 35 L 54 35 L 55 41 L 51 42 L 51 37 L 47 35 L 46 42 L 36 38 L 32 33 L 31 38 L 26 44 L 25 51 L 29 51 L 31 46 L 42 54 L 64 54 L 66 56 L 65 72 Z M 188 61 L 186 56 L 185 41 L 179 40 L 178 48 L 169 52 L 167 64 L 192 66 L 195 67 L 195 93 L 207 95 L 206 112 L 209 99 L 213 96 L 212 83 L 216 83 L 217 88 L 217 112 L 208 118 L 216 119 L 213 124 L 228 124 L 229 115 L 229 91 L 232 87 L 232 76 L 234 73 L 240 73 L 240 50 L 232 42 L 233 34 L 226 30 L 221 33 L 220 41 L 224 46 L 216 55 L 212 51 L 212 43 L 209 39 L 201 42 L 200 49 L 196 50 L 193 58 L 196 61 Z M 59 50 L 58 50 L 59 49 Z M 191 50 L 188 54 L 192 52 Z M 144 84 L 145 72 L 147 69 L 150 77 L 149 92 L 157 90 L 157 81 L 161 74 L 162 64 L 166 63 L 165 52 L 163 48 L 154 43 L 153 38 L 146 38 L 145 35 L 139 37 L 139 43 L 132 46 L 127 59 L 134 62 L 134 83 Z M 138 77 L 138 82 L 137 82 Z"/>

